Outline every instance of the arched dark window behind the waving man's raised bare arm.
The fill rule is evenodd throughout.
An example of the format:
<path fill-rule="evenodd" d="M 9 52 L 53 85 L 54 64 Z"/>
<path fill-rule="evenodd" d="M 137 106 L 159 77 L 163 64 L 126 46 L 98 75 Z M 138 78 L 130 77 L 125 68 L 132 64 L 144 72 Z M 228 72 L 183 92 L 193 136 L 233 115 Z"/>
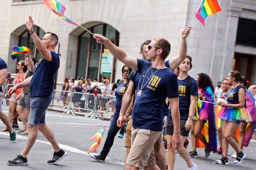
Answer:
<path fill-rule="evenodd" d="M 34 32 L 36 33 L 36 35 L 40 38 L 43 39 L 45 32 L 43 29 L 41 29 L 38 26 L 34 26 L 33 28 Z M 33 42 L 32 36 L 29 34 L 29 31 L 26 30 L 24 31 L 19 38 L 19 46 L 26 46 L 31 50 L 31 55 L 33 55 L 34 57 L 36 57 L 36 60 L 41 58 L 41 53 L 36 49 L 36 46 Z M 25 60 L 26 54 L 22 54 L 19 58 L 17 63 L 20 60 Z"/>

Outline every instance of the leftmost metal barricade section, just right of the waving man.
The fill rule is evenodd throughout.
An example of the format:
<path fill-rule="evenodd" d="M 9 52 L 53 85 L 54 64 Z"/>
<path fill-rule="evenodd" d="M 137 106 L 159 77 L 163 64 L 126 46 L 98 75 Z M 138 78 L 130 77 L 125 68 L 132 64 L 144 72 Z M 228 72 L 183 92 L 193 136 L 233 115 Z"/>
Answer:
<path fill-rule="evenodd" d="M 65 94 L 64 94 L 65 92 Z M 50 106 L 57 106 L 57 107 L 62 107 L 66 108 L 66 110 L 63 112 L 65 113 L 67 110 L 69 110 L 69 106 L 64 105 L 63 101 L 66 100 L 65 103 L 67 103 L 68 99 L 68 94 L 71 94 L 70 91 L 63 91 L 63 90 L 53 90 L 52 93 L 52 102 Z"/>

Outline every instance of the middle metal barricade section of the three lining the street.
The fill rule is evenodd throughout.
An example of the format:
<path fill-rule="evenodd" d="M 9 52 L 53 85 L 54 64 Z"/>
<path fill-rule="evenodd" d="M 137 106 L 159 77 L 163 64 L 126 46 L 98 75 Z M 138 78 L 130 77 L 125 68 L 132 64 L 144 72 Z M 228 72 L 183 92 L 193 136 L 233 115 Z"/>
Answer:
<path fill-rule="evenodd" d="M 84 115 L 86 117 L 92 115 L 92 113 L 94 112 L 94 103 L 95 103 L 94 94 L 90 94 L 90 93 L 84 94 L 79 92 L 73 92 L 73 95 L 71 96 L 72 97 L 69 101 L 70 109 L 67 111 L 66 114 L 68 113 L 74 114 L 75 111 L 78 111 L 77 114 Z M 89 113 L 87 113 L 87 111 L 89 111 Z M 94 116 L 94 114 L 92 116 Z"/>

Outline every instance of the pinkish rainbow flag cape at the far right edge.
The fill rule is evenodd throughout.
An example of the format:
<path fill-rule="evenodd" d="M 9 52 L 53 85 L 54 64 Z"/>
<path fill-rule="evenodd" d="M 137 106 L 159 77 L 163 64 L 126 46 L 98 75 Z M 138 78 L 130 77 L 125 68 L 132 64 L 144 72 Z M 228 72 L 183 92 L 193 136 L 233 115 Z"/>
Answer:
<path fill-rule="evenodd" d="M 245 103 L 246 108 L 249 111 L 249 114 L 252 118 L 252 122 L 247 124 L 244 133 L 244 146 L 247 147 L 249 142 L 252 138 L 253 131 L 256 127 L 256 107 L 255 107 L 255 100 L 252 96 L 252 93 L 245 89 Z"/>

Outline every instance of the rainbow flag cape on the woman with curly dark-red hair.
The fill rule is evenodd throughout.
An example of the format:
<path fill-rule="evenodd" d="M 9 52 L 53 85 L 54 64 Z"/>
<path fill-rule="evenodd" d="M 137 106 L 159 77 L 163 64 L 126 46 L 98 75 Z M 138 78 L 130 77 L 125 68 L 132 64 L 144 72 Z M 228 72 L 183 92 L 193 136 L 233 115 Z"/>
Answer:
<path fill-rule="evenodd" d="M 204 94 L 204 97 L 206 98 L 207 102 L 212 102 L 212 103 L 214 102 L 213 92 L 210 87 L 203 89 L 202 93 Z M 199 115 L 207 116 L 208 120 L 204 124 L 204 128 L 202 129 L 201 133 L 204 135 L 207 143 L 209 143 L 209 151 L 216 151 L 217 150 L 217 133 L 216 133 L 216 125 L 215 125 L 214 106 L 212 103 L 202 102 L 202 107 L 199 110 Z M 198 140 L 197 147 L 204 147 L 203 142 Z"/>

